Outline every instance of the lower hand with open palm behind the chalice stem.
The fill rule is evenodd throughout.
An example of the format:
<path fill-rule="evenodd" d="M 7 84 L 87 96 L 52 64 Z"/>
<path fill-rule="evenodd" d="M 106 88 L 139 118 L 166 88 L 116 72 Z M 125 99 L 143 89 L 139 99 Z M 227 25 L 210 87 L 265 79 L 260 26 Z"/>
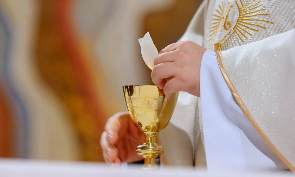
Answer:
<path fill-rule="evenodd" d="M 104 160 L 113 165 L 143 160 L 135 150 L 137 145 L 144 141 L 144 135 L 133 125 L 129 113 L 117 113 L 109 118 L 101 135 L 100 144 Z"/>

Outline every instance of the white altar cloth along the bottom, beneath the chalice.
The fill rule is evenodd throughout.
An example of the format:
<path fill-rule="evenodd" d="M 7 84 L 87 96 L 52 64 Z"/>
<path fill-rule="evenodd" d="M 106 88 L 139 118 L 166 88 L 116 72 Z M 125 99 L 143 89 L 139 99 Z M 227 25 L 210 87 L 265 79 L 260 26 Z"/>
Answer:
<path fill-rule="evenodd" d="M 122 166 L 121 168 L 109 167 L 104 163 L 90 162 L 68 162 L 68 161 L 40 161 L 24 159 L 0 158 L 0 176 L 40 176 L 40 177 L 61 177 L 61 176 L 99 176 L 99 177 L 124 177 L 124 176 L 153 176 L 153 177 L 178 177 L 178 176 L 202 176 L 202 177 L 248 177 L 248 176 L 294 176 L 292 174 L 263 174 L 263 173 L 239 173 L 234 171 L 207 173 L 193 168 L 165 167 L 158 170 L 143 171 L 140 166 Z"/>

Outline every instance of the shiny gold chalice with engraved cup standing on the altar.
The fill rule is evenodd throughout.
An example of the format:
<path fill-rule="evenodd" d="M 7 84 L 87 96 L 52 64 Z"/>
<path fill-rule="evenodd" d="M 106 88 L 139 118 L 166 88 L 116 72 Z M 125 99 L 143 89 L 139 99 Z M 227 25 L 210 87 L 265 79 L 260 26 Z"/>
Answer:
<path fill-rule="evenodd" d="M 158 168 L 155 159 L 164 149 L 156 143 L 156 136 L 168 125 L 178 92 L 168 100 L 155 85 L 126 85 L 123 90 L 132 122 L 145 135 L 145 143 L 136 149 L 137 154 L 145 158 L 142 169 Z"/>

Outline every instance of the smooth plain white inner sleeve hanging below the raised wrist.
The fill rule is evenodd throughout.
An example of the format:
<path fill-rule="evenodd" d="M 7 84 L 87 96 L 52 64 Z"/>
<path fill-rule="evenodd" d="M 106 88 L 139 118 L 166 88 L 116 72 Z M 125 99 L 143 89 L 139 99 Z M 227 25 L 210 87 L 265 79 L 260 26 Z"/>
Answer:
<path fill-rule="evenodd" d="M 204 53 L 200 72 L 208 171 L 287 169 L 236 104 L 214 52 L 207 50 Z"/>

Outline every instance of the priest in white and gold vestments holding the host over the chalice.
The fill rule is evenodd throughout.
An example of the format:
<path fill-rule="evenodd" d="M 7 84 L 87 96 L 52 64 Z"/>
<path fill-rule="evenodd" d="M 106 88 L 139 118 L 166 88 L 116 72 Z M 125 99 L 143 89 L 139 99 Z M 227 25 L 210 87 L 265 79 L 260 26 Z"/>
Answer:
<path fill-rule="evenodd" d="M 181 91 L 159 134 L 161 163 L 295 172 L 294 9 L 287 0 L 204 0 L 154 59 L 153 82 L 168 98 Z M 113 165 L 141 160 L 143 142 L 128 113 L 110 118 L 101 137 Z"/>

